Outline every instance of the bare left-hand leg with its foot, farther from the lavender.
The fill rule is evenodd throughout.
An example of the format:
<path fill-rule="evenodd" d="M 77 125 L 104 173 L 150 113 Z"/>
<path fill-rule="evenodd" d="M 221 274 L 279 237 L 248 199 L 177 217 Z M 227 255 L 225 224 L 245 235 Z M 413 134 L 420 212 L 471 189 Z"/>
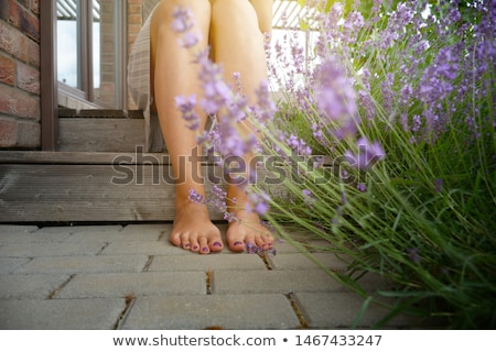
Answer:
<path fill-rule="evenodd" d="M 195 132 L 188 130 L 176 106 L 176 96 L 196 95 L 200 99 L 201 89 L 197 79 L 197 68 L 192 64 L 190 51 L 177 45 L 177 35 L 171 28 L 172 12 L 176 6 L 193 11 L 197 31 L 202 35 L 198 50 L 207 47 L 211 26 L 212 7 L 208 0 L 165 0 L 153 13 L 150 28 L 151 40 L 151 80 L 154 89 L 155 107 L 159 113 L 162 134 L 170 153 L 176 184 L 174 226 L 170 241 L 184 250 L 207 254 L 223 249 L 219 230 L 212 223 L 206 206 L 194 204 L 188 199 L 190 190 L 205 196 L 203 182 L 198 169 L 197 143 Z M 202 117 L 201 129 L 204 129 L 206 116 Z M 180 163 L 180 158 L 183 163 Z M 197 174 L 197 175 L 195 175 Z"/>

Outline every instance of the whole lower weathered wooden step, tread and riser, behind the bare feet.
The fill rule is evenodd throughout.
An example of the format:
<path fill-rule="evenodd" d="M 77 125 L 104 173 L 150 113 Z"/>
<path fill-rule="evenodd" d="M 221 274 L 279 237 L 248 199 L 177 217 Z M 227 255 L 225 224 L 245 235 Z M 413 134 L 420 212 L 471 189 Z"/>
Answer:
<path fill-rule="evenodd" d="M 281 175 L 257 168 L 258 182 L 285 197 Z M 220 167 L 204 158 L 207 195 L 225 188 Z M 0 222 L 134 222 L 174 219 L 175 184 L 166 154 L 0 152 Z M 198 176 L 198 182 L 200 182 Z M 213 220 L 223 215 L 211 208 Z"/>

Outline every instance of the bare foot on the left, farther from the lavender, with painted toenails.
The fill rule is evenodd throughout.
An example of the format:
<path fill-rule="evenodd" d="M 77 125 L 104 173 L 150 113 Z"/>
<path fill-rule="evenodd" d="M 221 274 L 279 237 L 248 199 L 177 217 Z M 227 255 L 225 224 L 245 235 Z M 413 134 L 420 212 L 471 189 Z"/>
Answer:
<path fill-rule="evenodd" d="M 187 201 L 176 209 L 169 237 L 172 244 L 200 254 L 223 250 L 220 231 L 212 223 L 206 206 Z"/>

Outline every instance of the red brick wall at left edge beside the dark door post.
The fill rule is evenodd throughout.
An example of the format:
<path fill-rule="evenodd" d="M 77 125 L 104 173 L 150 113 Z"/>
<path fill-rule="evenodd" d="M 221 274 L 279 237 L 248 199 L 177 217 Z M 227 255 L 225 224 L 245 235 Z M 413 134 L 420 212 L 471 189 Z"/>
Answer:
<path fill-rule="evenodd" d="M 40 147 L 40 3 L 0 0 L 0 148 Z"/>

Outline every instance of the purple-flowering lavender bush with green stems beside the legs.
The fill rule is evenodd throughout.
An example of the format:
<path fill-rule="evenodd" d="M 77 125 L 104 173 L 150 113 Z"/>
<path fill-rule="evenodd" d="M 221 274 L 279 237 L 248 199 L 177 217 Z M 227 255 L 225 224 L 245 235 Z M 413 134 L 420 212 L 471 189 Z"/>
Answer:
<path fill-rule="evenodd" d="M 186 122 L 195 128 L 194 103 L 220 112 L 198 141 L 223 158 L 254 153 L 279 176 L 256 182 L 259 163 L 246 165 L 251 210 L 312 258 L 293 228 L 346 254 L 348 271 L 321 267 L 364 309 L 392 299 L 378 326 L 412 314 L 496 327 L 496 1 L 299 2 L 317 10 L 319 36 L 309 57 L 291 33 L 272 43 L 272 63 L 284 67 L 269 69 L 277 106 L 265 82 L 250 106 L 198 53 L 206 99 L 177 99 Z M 240 123 L 260 139 L 241 135 Z M 369 272 L 389 289 L 362 288 Z"/>

